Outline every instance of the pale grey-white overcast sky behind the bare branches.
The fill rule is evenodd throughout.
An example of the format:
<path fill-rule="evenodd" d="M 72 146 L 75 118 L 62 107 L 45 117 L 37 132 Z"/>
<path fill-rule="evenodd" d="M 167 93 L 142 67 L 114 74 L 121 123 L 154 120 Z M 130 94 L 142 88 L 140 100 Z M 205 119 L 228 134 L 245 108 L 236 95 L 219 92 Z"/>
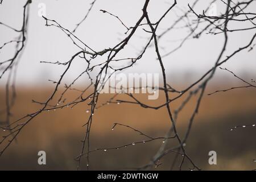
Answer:
<path fill-rule="evenodd" d="M 0 22 L 20 29 L 22 26 L 22 11 L 25 2 L 26 0 L 3 0 L 2 5 L 0 5 Z M 71 40 L 68 39 L 67 35 L 60 29 L 45 26 L 45 20 L 38 15 L 40 3 L 46 5 L 47 18 L 55 19 L 63 27 L 73 30 L 76 24 L 84 18 L 90 7 L 90 2 L 92 2 L 92 0 L 32 0 L 27 45 L 18 68 L 18 84 L 44 84 L 48 79 L 57 80 L 64 67 L 39 62 L 64 62 L 79 51 Z M 148 7 L 148 14 L 152 22 L 157 20 L 164 11 L 170 7 L 172 2 L 173 1 L 167 0 L 151 0 Z M 187 4 L 192 4 L 193 2 L 194 1 L 177 0 L 177 7 L 182 10 L 188 10 Z M 202 13 L 209 2 L 210 1 L 205 0 L 199 2 L 195 10 L 198 13 Z M 130 27 L 134 26 L 141 16 L 143 3 L 144 1 L 142 0 L 97 0 L 88 18 L 77 29 L 76 35 L 96 51 L 113 47 L 126 37 L 124 34 L 126 29 L 113 16 L 103 14 L 100 10 L 106 10 L 119 16 L 123 23 L 125 23 L 127 27 Z M 256 9 L 255 4 L 254 2 L 254 6 L 252 5 L 254 9 Z M 216 4 L 217 13 L 221 13 L 223 10 L 221 8 L 222 5 L 221 1 Z M 164 18 L 159 26 L 158 32 L 156 32 L 157 34 L 160 34 L 165 28 L 168 28 L 172 22 L 182 14 L 181 10 L 177 7 Z M 183 23 L 184 22 L 181 22 L 178 26 L 184 26 Z M 238 24 L 238 26 L 240 25 Z M 144 28 L 149 30 L 148 27 Z M 239 47 L 245 46 L 254 33 L 254 31 L 232 32 L 229 36 L 226 55 Z M 179 41 L 174 42 L 174 40 L 184 38 L 187 34 L 188 29 L 169 32 L 159 41 L 159 46 L 162 47 L 160 53 L 163 55 L 174 49 L 180 43 Z M 16 36 L 18 36 L 16 32 L 0 25 L 0 46 Z M 120 52 L 118 57 L 134 57 L 138 55 L 142 46 L 147 42 L 148 36 L 150 36 L 150 34 L 140 28 L 134 35 L 134 38 L 131 39 L 129 45 Z M 200 39 L 191 39 L 185 42 L 183 48 L 163 59 L 168 73 L 168 79 L 175 80 L 190 77 L 191 75 L 197 76 L 199 73 L 207 71 L 213 66 L 214 61 L 216 61 L 223 42 L 223 34 L 204 34 Z M 2 49 L 0 52 L 0 60 L 3 61 L 13 56 L 14 50 L 13 46 Z M 251 52 L 243 51 L 237 55 L 236 58 L 231 59 L 229 63 L 226 63 L 224 67 L 239 73 L 255 73 L 255 57 L 255 50 Z M 97 61 L 102 61 L 102 59 L 99 58 Z M 84 68 L 84 64 L 81 64 L 81 62 L 80 59 L 77 59 L 77 62 L 73 65 L 72 71 L 68 73 L 66 79 L 72 80 L 73 77 L 80 74 L 82 68 Z M 154 47 L 148 49 L 143 59 L 139 60 L 133 68 L 127 69 L 127 73 L 129 72 L 160 72 L 160 66 L 156 61 Z M 0 80 L 1 85 L 4 84 L 6 77 L 7 75 Z"/>

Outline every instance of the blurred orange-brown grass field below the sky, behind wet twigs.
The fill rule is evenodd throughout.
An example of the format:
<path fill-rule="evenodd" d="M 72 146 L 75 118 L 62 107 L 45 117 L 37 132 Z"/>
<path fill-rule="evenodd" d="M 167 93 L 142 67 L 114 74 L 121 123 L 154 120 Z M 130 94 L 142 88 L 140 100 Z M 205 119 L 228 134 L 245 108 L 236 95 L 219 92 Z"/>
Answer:
<path fill-rule="evenodd" d="M 211 88 L 214 90 L 214 88 Z M 208 90 L 209 91 L 209 90 Z M 44 101 L 52 90 L 40 88 L 19 88 L 18 99 L 13 108 L 14 119 L 22 117 L 36 109 L 38 104 L 31 100 Z M 67 98 L 74 98 L 75 92 L 67 94 Z M 110 94 L 102 94 L 101 103 L 110 98 Z M 145 96 L 137 96 L 152 105 L 163 101 L 146 101 Z M 119 96 L 127 99 L 126 96 Z M 188 125 L 188 119 L 195 107 L 196 97 L 185 107 L 177 120 L 177 129 L 183 136 Z M 230 127 L 256 122 L 256 92 L 255 89 L 232 90 L 229 93 L 205 95 L 203 102 L 192 126 L 192 132 L 185 148 L 193 161 L 204 170 L 251 170 L 256 168 L 253 159 L 256 158 L 255 128 L 240 128 L 229 131 Z M 0 92 L 0 109 L 5 109 L 5 91 Z M 180 101 L 171 104 L 175 108 Z M 87 103 L 82 103 L 73 109 L 65 107 L 56 111 L 45 112 L 31 121 L 20 133 L 17 142 L 11 144 L 0 158 L 0 170 L 7 169 L 72 169 L 77 163 L 74 160 L 80 152 L 82 136 L 87 121 Z M 0 121 L 5 118 L 1 114 Z M 113 123 L 118 122 L 132 126 L 154 137 L 164 137 L 171 123 L 166 108 L 159 110 L 143 109 L 138 105 L 110 104 L 101 107 L 94 114 L 90 135 L 91 148 L 115 147 L 126 143 L 141 141 L 144 138 L 126 127 L 116 127 L 111 130 Z M 1 135 L 3 132 L 0 131 Z M 162 144 L 162 140 L 151 143 L 136 144 L 119 150 L 96 151 L 90 155 L 91 169 L 130 169 L 147 164 Z M 168 145 L 174 146 L 176 142 Z M 47 152 L 47 165 L 39 166 L 37 152 Z M 217 165 L 208 164 L 208 152 L 217 152 Z M 174 154 L 166 155 L 163 164 L 158 168 L 168 170 L 171 167 Z M 178 159 L 178 163 L 181 158 Z M 83 169 L 86 162 L 82 163 Z M 178 165 L 176 165 L 178 166 Z M 185 162 L 184 169 L 189 164 Z M 177 168 L 175 168 L 177 169 Z"/>

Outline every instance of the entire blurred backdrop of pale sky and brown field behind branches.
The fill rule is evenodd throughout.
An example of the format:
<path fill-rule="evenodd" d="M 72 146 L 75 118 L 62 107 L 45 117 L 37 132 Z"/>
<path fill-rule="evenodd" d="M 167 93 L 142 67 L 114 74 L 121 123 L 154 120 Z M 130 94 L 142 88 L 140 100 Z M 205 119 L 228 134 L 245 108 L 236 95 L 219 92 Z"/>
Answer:
<path fill-rule="evenodd" d="M 22 26 L 22 11 L 26 1 L 3 0 L 0 5 L 0 22 L 9 24 L 11 27 L 19 29 Z M 46 6 L 46 17 L 55 19 L 63 27 L 73 30 L 76 24 L 87 13 L 92 1 L 32 1 L 30 5 L 30 18 L 28 21 L 27 43 L 20 59 L 16 76 L 17 100 L 11 113 L 11 121 L 15 121 L 28 113 L 32 113 L 41 108 L 31 101 L 46 101 L 54 90 L 54 84 L 48 80 L 59 79 L 64 67 L 60 65 L 43 64 L 40 61 L 68 61 L 72 55 L 79 51 L 74 46 L 67 35 L 56 27 L 46 27 L 45 20 L 38 15 L 39 6 L 42 3 Z M 177 8 L 163 19 L 159 26 L 160 34 L 177 19 L 183 11 L 188 10 L 187 4 L 195 1 L 177 1 Z M 200 1 L 195 10 L 202 13 L 211 1 Z M 96 1 L 92 11 L 85 22 L 77 28 L 76 35 L 86 44 L 97 51 L 104 48 L 113 47 L 124 39 L 125 28 L 108 14 L 102 14 L 102 10 L 118 15 L 128 27 L 134 26 L 141 16 L 141 9 L 144 1 L 120 1 L 109 0 Z M 163 12 L 172 2 L 152 0 L 148 7 L 148 14 L 152 21 L 159 19 Z M 255 3 L 254 3 L 255 5 Z M 179 8 L 178 8 L 179 7 Z M 223 13 L 221 1 L 217 1 L 217 14 Z M 256 6 L 248 11 L 255 12 Z M 184 26 L 181 22 L 177 27 Z M 233 26 L 241 26 L 233 24 Z M 189 33 L 188 28 L 174 29 L 159 40 L 162 54 L 170 52 L 180 45 L 182 38 Z M 245 46 L 254 34 L 254 30 L 244 32 L 232 32 L 229 36 L 228 49 L 226 55 L 230 55 L 236 49 Z M 18 36 L 17 32 L 11 31 L 5 26 L 0 26 L 0 44 Z M 134 38 L 126 49 L 123 49 L 119 58 L 133 57 L 138 55 L 150 35 L 138 30 Z M 183 47 L 170 56 L 164 57 L 164 66 L 167 72 L 167 81 L 174 88 L 181 90 L 192 82 L 196 81 L 210 68 L 217 60 L 223 44 L 223 35 L 204 34 L 200 39 L 189 39 Z M 0 59 L 6 60 L 13 56 L 14 46 L 7 46 L 1 49 Z M 243 51 L 236 57 L 225 63 L 223 67 L 232 70 L 234 73 L 250 81 L 256 79 L 255 76 L 256 52 Z M 104 60 L 98 57 L 95 64 Z M 85 68 L 86 64 L 80 59 L 76 59 L 71 70 L 64 77 L 64 84 L 70 84 Z M 118 66 L 118 64 L 117 64 Z M 121 66 L 121 65 L 119 65 Z M 96 76 L 98 69 L 91 74 Z M 145 55 L 133 68 L 129 68 L 125 73 L 160 73 L 159 63 L 156 61 L 154 47 L 148 48 Z M 6 109 L 5 84 L 7 76 L 0 80 L 0 121 L 5 120 Z M 160 77 L 161 80 L 161 77 Z M 86 88 L 89 78 L 81 77 L 74 88 Z M 160 81 L 161 84 L 161 81 Z M 245 88 L 230 90 L 208 96 L 210 92 L 220 89 L 228 89 L 233 86 L 244 85 L 232 74 L 217 69 L 216 75 L 210 81 L 210 85 L 205 92 L 201 103 L 199 114 L 196 115 L 192 126 L 191 135 L 186 143 L 187 153 L 199 167 L 205 170 L 252 170 L 256 168 L 256 143 L 255 127 L 238 128 L 230 131 L 230 128 L 237 125 L 251 125 L 256 123 L 256 90 L 255 88 Z M 63 89 L 59 90 L 58 94 Z M 88 90 L 87 94 L 92 92 Z M 85 95 L 86 95 L 85 93 Z M 69 90 L 65 94 L 67 101 L 71 101 L 79 96 L 76 90 Z M 98 104 L 108 101 L 113 94 L 100 94 Z M 135 94 L 139 100 L 157 106 L 164 102 L 164 95 L 160 92 L 159 99 L 148 101 L 146 94 Z M 170 94 L 173 98 L 175 94 Z M 177 119 L 177 130 L 181 137 L 184 137 L 189 118 L 195 108 L 196 97 L 185 106 Z M 184 101 L 184 98 L 171 104 L 174 111 Z M 129 100 L 127 96 L 121 94 L 117 99 Z M 75 170 L 77 162 L 74 158 L 79 155 L 81 142 L 85 128 L 82 127 L 89 117 L 86 110 L 89 109 L 88 102 L 84 102 L 71 109 L 64 107 L 56 111 L 42 113 L 31 121 L 19 134 L 18 140 L 11 144 L 5 154 L 0 157 L 0 170 Z M 126 127 L 116 127 L 113 131 L 113 123 L 122 123 L 143 131 L 152 137 L 164 137 L 170 129 L 171 123 L 165 107 L 159 110 L 143 109 L 138 105 L 110 104 L 97 109 L 94 113 L 94 120 L 90 136 L 90 148 L 118 147 L 126 143 L 142 141 L 145 138 L 127 129 Z M 1 136 L 7 131 L 0 131 Z M 147 164 L 152 156 L 156 154 L 162 140 L 155 140 L 145 144 L 135 144 L 119 150 L 96 151 L 90 155 L 90 169 L 134 169 Z M 168 147 L 176 146 L 176 142 L 170 139 Z M 38 151 L 46 151 L 47 165 L 38 165 Z M 217 165 L 209 165 L 209 151 L 217 152 Z M 174 154 L 166 155 L 160 163 L 163 163 L 155 170 L 171 168 Z M 177 159 L 174 169 L 178 169 L 181 158 Z M 187 161 L 183 169 L 192 167 Z M 82 169 L 86 169 L 86 160 L 83 159 Z"/>

